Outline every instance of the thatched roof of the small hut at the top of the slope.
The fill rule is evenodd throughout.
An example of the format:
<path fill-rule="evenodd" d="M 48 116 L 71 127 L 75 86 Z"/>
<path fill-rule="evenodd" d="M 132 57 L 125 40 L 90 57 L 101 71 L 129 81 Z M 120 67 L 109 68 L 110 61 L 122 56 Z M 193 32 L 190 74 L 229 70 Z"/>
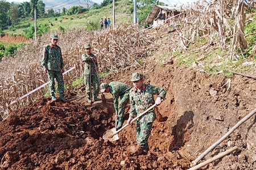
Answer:
<path fill-rule="evenodd" d="M 163 11 L 168 11 L 168 12 L 172 12 L 172 11 L 180 12 L 181 11 L 180 8 L 177 8 L 177 7 L 155 5 L 152 8 L 151 12 L 147 15 L 146 23 L 152 23 L 153 20 L 156 18 L 156 16 L 158 16 L 160 9 L 162 9 Z"/>

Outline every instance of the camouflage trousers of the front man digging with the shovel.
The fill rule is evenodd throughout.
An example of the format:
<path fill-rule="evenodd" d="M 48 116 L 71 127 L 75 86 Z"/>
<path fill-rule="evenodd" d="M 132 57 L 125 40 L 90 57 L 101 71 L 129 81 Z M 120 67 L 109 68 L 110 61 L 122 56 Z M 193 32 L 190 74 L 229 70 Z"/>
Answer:
<path fill-rule="evenodd" d="M 136 121 L 137 143 L 143 147 L 144 151 L 148 151 L 147 139 L 150 137 L 153 122 Z"/>

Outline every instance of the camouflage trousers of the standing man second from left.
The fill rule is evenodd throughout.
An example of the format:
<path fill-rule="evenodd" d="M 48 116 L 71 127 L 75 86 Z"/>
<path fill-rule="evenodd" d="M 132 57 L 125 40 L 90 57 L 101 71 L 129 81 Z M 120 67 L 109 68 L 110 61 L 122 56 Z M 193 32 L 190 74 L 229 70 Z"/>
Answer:
<path fill-rule="evenodd" d="M 97 74 L 91 74 L 91 85 L 93 87 L 93 96 L 94 98 L 98 96 L 98 92 L 100 92 L 100 80 L 98 79 Z M 90 75 L 84 75 L 84 84 L 85 84 L 85 95 L 87 99 L 90 99 L 90 93 L 92 92 L 92 88 L 90 88 Z M 92 99 L 90 99 L 92 100 Z"/>

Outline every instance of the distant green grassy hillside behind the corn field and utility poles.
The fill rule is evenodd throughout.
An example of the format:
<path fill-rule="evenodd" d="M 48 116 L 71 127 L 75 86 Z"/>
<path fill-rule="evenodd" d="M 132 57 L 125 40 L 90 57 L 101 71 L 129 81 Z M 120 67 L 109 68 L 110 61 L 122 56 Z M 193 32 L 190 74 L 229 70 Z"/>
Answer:
<path fill-rule="evenodd" d="M 115 23 L 125 23 L 133 20 L 133 2 L 130 0 L 122 0 L 115 2 Z M 91 8 L 83 14 L 61 15 L 50 18 L 38 18 L 36 24 L 38 26 L 38 35 L 48 32 L 65 31 L 73 28 L 84 28 L 85 31 L 100 29 L 100 19 L 108 16 L 113 19 L 113 5 L 101 8 Z M 112 21 L 113 22 L 113 21 Z M 3 29 L 2 33 L 8 33 L 13 36 L 25 36 L 32 38 L 34 35 L 34 20 L 27 19 L 18 24 L 11 25 L 9 29 Z"/>

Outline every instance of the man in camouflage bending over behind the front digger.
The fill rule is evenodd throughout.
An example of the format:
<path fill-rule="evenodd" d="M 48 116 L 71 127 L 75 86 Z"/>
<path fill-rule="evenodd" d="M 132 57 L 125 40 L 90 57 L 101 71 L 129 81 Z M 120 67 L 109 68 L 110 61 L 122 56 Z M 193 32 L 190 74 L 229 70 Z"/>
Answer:
<path fill-rule="evenodd" d="M 100 87 L 101 92 L 110 92 L 113 96 L 118 130 L 123 125 L 123 113 L 125 112 L 125 107 L 129 101 L 129 91 L 131 88 L 127 84 L 120 82 L 110 82 L 109 84 L 102 83 Z"/>

